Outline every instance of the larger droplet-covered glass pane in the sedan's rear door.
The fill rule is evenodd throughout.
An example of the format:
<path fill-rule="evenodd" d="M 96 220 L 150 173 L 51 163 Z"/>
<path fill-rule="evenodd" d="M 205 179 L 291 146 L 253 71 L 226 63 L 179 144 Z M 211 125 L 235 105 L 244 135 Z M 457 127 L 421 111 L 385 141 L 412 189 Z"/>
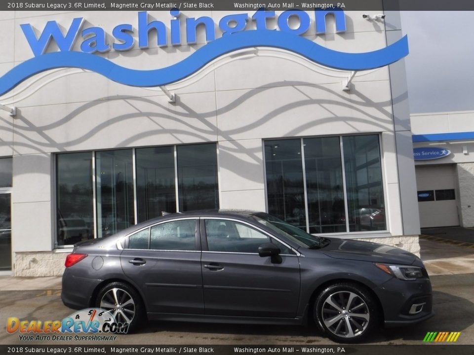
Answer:
<path fill-rule="evenodd" d="M 150 249 L 196 250 L 196 219 L 157 224 L 151 228 Z"/>

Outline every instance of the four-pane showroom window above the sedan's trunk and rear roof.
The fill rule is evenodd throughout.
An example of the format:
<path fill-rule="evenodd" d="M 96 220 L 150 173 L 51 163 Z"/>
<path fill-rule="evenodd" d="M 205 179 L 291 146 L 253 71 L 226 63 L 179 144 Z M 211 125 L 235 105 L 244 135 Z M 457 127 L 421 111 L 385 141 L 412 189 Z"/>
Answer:
<path fill-rule="evenodd" d="M 56 172 L 60 247 L 161 212 L 219 208 L 215 143 L 60 153 Z"/>

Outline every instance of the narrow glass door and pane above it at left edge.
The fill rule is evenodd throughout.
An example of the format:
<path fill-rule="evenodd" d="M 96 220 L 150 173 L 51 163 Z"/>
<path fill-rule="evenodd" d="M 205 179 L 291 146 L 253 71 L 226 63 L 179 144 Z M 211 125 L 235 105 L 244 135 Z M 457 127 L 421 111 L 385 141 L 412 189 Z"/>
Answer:
<path fill-rule="evenodd" d="M 12 159 L 0 159 L 0 271 L 11 270 Z"/>

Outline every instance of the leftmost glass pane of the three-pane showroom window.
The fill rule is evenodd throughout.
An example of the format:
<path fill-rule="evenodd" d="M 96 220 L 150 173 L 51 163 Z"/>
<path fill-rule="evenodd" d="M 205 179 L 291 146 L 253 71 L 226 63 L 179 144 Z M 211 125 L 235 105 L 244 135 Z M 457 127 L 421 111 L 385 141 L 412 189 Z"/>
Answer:
<path fill-rule="evenodd" d="M 268 213 L 306 230 L 301 141 L 265 142 Z"/>

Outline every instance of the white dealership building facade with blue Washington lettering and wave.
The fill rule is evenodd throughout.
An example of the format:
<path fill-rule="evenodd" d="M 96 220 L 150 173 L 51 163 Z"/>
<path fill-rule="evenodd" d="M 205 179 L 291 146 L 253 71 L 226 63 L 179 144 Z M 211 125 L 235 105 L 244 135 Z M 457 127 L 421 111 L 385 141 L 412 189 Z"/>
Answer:
<path fill-rule="evenodd" d="M 0 103 L 16 107 L 13 116 L 0 112 L 1 270 L 60 275 L 81 240 L 163 211 L 217 208 L 266 211 L 309 233 L 419 252 L 403 59 L 341 70 L 329 57 L 318 62 L 269 42 L 236 49 L 237 33 L 222 36 L 227 23 L 249 33 L 265 26 L 345 53 L 402 38 L 397 12 L 365 13 L 1 13 Z M 236 14 L 247 19 L 222 22 Z M 62 39 L 46 36 L 55 26 Z M 153 81 L 151 72 L 125 75 L 109 64 L 96 72 L 75 58 L 49 68 L 46 59 L 90 52 L 87 61 L 152 71 L 187 58 L 194 65 L 214 42 L 233 49 L 219 47 L 196 71 L 150 87 L 130 83 Z M 41 60 L 48 70 L 37 70 Z M 162 75 L 181 70 L 173 68 Z"/>

